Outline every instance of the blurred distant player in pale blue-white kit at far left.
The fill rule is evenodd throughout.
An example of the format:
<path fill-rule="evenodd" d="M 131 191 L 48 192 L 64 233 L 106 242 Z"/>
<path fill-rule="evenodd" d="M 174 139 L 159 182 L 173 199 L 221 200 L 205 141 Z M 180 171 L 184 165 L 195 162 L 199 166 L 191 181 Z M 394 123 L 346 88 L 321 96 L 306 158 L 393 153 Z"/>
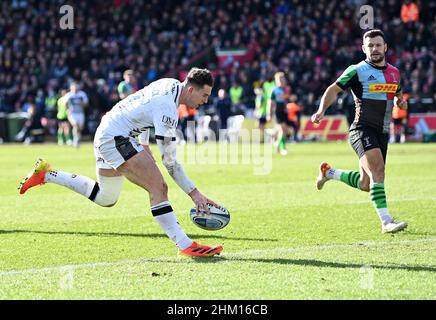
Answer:
<path fill-rule="evenodd" d="M 85 111 L 88 106 L 88 96 L 85 92 L 80 90 L 76 82 L 70 85 L 70 91 L 67 93 L 66 106 L 68 111 L 68 121 L 73 127 L 73 145 L 78 147 L 80 144 L 80 137 L 85 125 Z"/>

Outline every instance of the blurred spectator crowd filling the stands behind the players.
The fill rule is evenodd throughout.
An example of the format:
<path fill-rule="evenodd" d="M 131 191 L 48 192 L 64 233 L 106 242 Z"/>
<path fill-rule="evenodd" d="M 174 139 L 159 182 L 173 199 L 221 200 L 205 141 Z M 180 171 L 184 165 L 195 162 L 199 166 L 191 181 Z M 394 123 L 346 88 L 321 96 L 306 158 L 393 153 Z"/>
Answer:
<path fill-rule="evenodd" d="M 59 25 L 64 4 L 74 9 L 72 30 Z M 283 71 L 311 114 L 326 87 L 364 58 L 362 5 L 373 6 L 374 27 L 387 36 L 387 60 L 402 73 L 410 111 L 436 111 L 436 3 L 410 8 L 399 0 L 1 1 L 0 111 L 36 105 L 53 118 L 61 89 L 77 81 L 89 98 L 85 132 L 93 133 L 120 99 L 125 70 L 141 88 L 195 65 L 216 70 L 211 106 L 220 89 L 234 86 L 238 105 L 254 109 L 254 89 Z M 255 48 L 252 61 L 220 70 L 216 49 L 247 47 Z M 330 112 L 346 113 L 351 100 L 344 96 Z"/>

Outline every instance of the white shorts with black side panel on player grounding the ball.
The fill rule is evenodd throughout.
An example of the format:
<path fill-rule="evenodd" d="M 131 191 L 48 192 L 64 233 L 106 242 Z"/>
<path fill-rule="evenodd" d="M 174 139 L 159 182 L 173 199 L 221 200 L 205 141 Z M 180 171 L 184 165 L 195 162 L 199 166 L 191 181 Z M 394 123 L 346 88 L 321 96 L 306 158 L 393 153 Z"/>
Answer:
<path fill-rule="evenodd" d="M 96 133 L 94 155 L 99 169 L 117 169 L 144 148 L 132 137 L 102 137 Z"/>

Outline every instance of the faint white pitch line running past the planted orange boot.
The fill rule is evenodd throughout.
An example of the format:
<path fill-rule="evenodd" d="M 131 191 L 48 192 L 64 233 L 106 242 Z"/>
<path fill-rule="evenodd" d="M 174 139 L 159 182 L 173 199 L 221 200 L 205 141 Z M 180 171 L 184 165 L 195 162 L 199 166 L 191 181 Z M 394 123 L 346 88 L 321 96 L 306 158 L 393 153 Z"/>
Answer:
<path fill-rule="evenodd" d="M 392 241 L 367 241 L 367 242 L 356 242 L 349 244 L 330 244 L 330 245 L 312 245 L 312 246 L 303 246 L 303 247 L 294 247 L 294 248 L 275 248 L 275 249 L 254 249 L 240 252 L 229 252 L 224 253 L 223 257 L 231 258 L 231 257 L 239 257 L 245 255 L 253 255 L 253 254 L 263 254 L 263 253 L 289 253 L 295 251 L 306 251 L 306 250 L 324 250 L 324 249 L 338 249 L 338 248 L 349 248 L 349 247 L 377 247 L 377 246 L 385 246 L 385 245 L 397 245 L 397 244 L 410 244 L 410 243 L 419 243 L 419 242 L 434 242 L 436 238 L 428 238 L 428 239 L 416 239 L 416 240 L 400 240 L 396 242 Z M 70 271 L 74 269 L 81 268 L 98 268 L 98 267 L 113 267 L 119 266 L 123 264 L 136 264 L 136 263 L 153 263 L 153 262 L 174 262 L 178 261 L 178 257 L 176 256 L 166 256 L 160 258 L 140 258 L 140 259 L 126 259 L 119 260 L 114 262 L 90 262 L 90 263 L 82 263 L 75 265 L 64 265 L 64 266 L 53 266 L 47 268 L 36 268 L 36 269 L 23 269 L 23 270 L 13 270 L 13 271 L 5 271 L 0 272 L 0 276 L 14 276 L 14 275 L 24 275 L 31 273 L 43 273 L 43 272 L 51 272 L 51 271 Z"/>

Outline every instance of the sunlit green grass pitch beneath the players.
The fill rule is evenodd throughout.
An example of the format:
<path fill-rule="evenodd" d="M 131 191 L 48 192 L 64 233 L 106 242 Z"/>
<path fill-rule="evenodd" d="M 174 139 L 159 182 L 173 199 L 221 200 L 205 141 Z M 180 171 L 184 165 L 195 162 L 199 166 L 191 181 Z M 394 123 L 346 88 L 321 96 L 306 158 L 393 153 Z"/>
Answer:
<path fill-rule="evenodd" d="M 18 195 L 38 156 L 95 178 L 91 144 L 0 146 L 0 299 L 435 299 L 436 146 L 389 147 L 388 206 L 409 223 L 395 235 L 381 234 L 368 193 L 336 181 L 316 190 L 322 160 L 357 169 L 347 143 L 289 149 L 272 155 L 266 175 L 241 162 L 185 165 L 231 213 L 215 232 L 190 222 L 191 200 L 164 172 L 188 235 L 224 244 L 219 257 L 191 259 L 177 255 L 130 182 L 112 208 L 50 184 Z"/>

